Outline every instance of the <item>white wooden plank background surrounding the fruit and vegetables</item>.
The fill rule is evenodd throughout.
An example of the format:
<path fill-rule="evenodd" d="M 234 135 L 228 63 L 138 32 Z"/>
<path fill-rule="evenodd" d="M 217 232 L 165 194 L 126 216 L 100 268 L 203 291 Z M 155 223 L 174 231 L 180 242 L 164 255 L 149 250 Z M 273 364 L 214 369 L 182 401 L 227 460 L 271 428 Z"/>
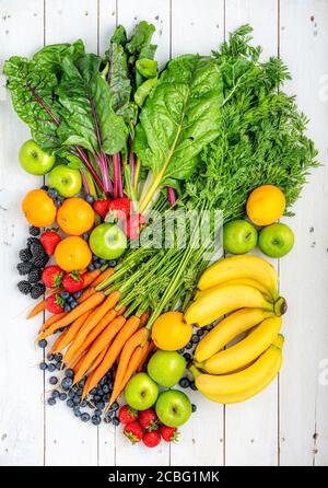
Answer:
<path fill-rule="evenodd" d="M 35 178 L 20 170 L 28 132 L 0 88 L 0 465 L 328 465 L 328 1 L 327 0 L 0 0 L 0 66 L 44 44 L 82 37 L 103 53 L 117 23 L 156 26 L 157 59 L 210 53 L 238 25 L 255 27 L 263 56 L 280 54 L 311 117 L 324 166 L 309 177 L 296 217 L 296 245 L 279 263 L 285 318 L 280 379 L 258 397 L 222 407 L 192 394 L 198 411 L 176 445 L 131 446 L 120 428 L 83 425 L 63 405 L 45 407 L 48 377 L 33 346 L 42 319 L 25 323 L 27 298 L 15 289 L 16 253 L 26 237 L 20 200 Z M 28 25 L 28 31 L 26 31 Z M 1 80 L 1 85 L 3 85 Z"/>

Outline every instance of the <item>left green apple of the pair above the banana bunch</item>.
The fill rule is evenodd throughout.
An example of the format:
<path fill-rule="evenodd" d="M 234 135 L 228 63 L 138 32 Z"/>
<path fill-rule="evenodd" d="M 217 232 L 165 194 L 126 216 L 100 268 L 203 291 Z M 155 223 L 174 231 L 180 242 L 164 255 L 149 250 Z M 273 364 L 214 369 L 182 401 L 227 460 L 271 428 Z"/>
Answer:
<path fill-rule="evenodd" d="M 223 226 L 223 247 L 227 253 L 249 253 L 256 243 L 257 230 L 247 220 L 233 220 Z"/>

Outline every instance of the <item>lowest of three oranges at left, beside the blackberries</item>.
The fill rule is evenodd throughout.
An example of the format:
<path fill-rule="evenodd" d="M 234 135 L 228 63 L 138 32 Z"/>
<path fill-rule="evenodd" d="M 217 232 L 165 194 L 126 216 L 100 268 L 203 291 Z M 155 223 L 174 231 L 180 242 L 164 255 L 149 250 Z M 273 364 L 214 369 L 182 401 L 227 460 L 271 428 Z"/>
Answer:
<path fill-rule="evenodd" d="M 83 269 L 90 265 L 92 253 L 82 237 L 66 237 L 57 244 L 55 259 L 65 271 Z"/>

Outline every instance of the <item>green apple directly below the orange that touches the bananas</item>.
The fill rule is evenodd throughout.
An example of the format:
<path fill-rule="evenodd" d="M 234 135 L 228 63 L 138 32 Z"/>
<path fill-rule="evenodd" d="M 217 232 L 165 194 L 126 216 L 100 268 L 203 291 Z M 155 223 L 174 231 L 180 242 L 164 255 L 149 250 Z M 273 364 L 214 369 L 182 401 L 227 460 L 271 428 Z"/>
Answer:
<path fill-rule="evenodd" d="M 176 351 L 156 351 L 147 368 L 150 377 L 164 388 L 176 385 L 185 369 L 186 360 Z"/>

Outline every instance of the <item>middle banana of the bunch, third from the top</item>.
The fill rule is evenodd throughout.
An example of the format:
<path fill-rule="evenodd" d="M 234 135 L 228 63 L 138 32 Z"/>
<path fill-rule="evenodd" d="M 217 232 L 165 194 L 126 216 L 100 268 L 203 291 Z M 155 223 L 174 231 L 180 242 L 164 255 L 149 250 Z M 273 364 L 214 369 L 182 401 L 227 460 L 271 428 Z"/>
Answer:
<path fill-rule="evenodd" d="M 220 351 L 231 340 L 245 333 L 255 325 L 260 324 L 265 318 L 272 316 L 273 312 L 263 309 L 241 309 L 223 318 L 203 339 L 195 350 L 197 362 L 204 361 L 215 352 Z"/>

